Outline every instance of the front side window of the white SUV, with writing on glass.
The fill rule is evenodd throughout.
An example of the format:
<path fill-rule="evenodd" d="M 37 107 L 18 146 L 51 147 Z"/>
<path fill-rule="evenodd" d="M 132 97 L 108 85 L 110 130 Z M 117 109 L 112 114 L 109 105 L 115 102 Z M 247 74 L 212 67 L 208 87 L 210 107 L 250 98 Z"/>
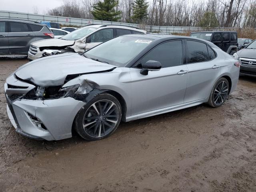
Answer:
<path fill-rule="evenodd" d="M 87 43 L 102 43 L 113 38 L 113 29 L 103 29 L 92 34 Z"/>

